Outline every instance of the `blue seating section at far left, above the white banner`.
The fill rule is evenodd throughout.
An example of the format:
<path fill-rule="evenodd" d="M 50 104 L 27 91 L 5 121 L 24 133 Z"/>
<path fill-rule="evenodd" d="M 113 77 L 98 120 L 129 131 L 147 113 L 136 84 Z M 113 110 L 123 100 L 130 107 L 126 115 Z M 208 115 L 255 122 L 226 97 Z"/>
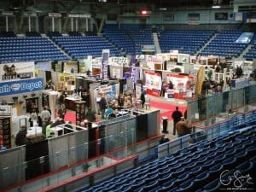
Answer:
<path fill-rule="evenodd" d="M 68 60 L 48 38 L 0 38 L 0 62 Z"/>

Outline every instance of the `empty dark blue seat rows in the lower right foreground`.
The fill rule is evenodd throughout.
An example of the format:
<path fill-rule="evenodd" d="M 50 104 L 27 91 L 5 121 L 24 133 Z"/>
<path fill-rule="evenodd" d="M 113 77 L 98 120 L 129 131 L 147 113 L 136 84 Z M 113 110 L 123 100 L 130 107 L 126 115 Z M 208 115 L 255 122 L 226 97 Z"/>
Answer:
<path fill-rule="evenodd" d="M 79 191 L 218 191 L 232 187 L 232 184 L 222 185 L 219 177 L 224 170 L 229 170 L 223 174 L 224 178 L 233 175 L 235 170 L 241 175 L 249 174 L 252 177 L 255 174 L 255 136 L 256 126 L 251 126 L 246 130 L 195 143 L 175 154 Z"/>

